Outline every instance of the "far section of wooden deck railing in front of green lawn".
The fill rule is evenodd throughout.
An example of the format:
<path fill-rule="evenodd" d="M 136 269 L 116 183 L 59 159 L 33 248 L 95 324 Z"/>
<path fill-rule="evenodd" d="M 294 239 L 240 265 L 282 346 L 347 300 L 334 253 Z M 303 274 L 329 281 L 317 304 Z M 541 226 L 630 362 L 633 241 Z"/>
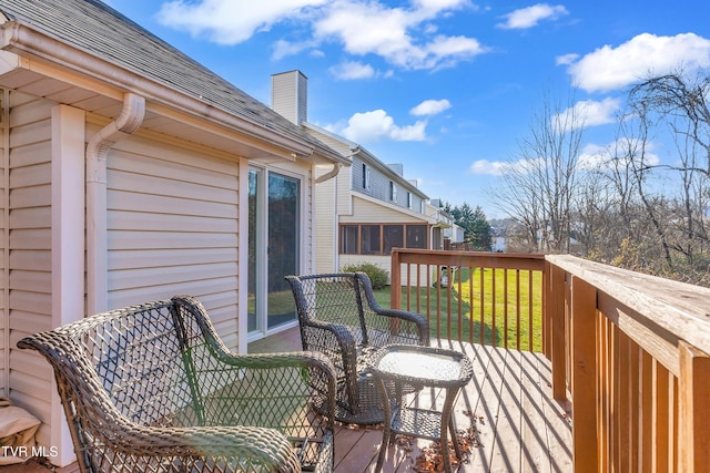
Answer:
<path fill-rule="evenodd" d="M 436 338 L 541 351 L 544 269 L 541 255 L 395 249 L 390 304 Z"/>

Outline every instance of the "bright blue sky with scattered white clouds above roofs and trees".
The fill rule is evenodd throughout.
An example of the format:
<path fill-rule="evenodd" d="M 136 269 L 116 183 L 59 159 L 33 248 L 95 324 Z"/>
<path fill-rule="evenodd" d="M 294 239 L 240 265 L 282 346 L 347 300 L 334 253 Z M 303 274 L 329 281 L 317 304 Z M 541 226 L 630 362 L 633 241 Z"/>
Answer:
<path fill-rule="evenodd" d="M 515 163 L 545 96 L 574 96 L 592 153 L 615 140 L 635 81 L 681 64 L 710 74 L 708 0 L 108 3 L 266 104 L 271 74 L 302 71 L 308 122 L 490 218 L 501 163 Z"/>

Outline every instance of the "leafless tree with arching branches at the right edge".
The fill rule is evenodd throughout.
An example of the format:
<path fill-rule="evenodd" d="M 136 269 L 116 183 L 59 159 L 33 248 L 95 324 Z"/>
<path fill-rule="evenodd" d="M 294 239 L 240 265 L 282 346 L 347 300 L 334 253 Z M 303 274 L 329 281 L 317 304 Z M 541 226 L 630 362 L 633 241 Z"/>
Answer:
<path fill-rule="evenodd" d="M 672 164 L 648 164 L 637 175 L 674 172 L 677 184 L 663 195 L 663 206 L 641 187 L 639 196 L 662 244 L 667 267 L 678 275 L 707 273 L 708 194 L 710 179 L 710 78 L 682 71 L 650 78 L 629 93 L 629 104 L 647 131 L 666 133 L 676 146 Z M 666 215 L 663 215 L 663 213 Z M 696 276 L 690 276 L 694 278 Z M 701 278 L 706 276 L 700 276 Z"/>

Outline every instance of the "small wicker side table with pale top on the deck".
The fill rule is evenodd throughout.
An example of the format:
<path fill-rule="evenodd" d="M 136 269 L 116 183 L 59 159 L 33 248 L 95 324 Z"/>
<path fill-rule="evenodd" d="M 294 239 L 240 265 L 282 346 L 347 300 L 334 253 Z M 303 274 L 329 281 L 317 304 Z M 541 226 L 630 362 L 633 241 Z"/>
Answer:
<path fill-rule="evenodd" d="M 375 471 L 382 471 L 393 434 L 405 434 L 438 440 L 442 443 L 444 469 L 450 472 L 447 432 L 450 432 L 456 456 L 460 460 L 462 452 L 452 411 L 460 389 L 473 377 L 473 366 L 468 357 L 459 351 L 442 348 L 389 345 L 373 353 L 368 364 L 377 380 L 382 399 L 385 400 L 385 425 Z M 393 390 L 387 389 L 393 383 L 394 397 Z M 424 388 L 443 389 L 443 409 L 439 411 L 414 407 L 417 403 L 405 404 L 403 387 L 412 387 L 417 391 Z M 412 392 L 412 389 L 407 391 Z"/>

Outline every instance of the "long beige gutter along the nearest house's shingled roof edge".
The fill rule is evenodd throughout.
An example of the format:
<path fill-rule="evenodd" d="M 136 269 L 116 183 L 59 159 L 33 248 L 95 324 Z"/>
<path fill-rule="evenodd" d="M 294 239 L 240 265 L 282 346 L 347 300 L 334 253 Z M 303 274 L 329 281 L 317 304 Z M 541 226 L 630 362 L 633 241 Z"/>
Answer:
<path fill-rule="evenodd" d="M 33 30 L 26 23 L 17 20 L 7 22 L 2 25 L 1 32 L 0 49 L 42 59 L 63 69 L 87 74 L 120 90 L 131 90 L 142 95 L 145 100 L 158 102 L 169 109 L 186 113 L 200 120 L 206 119 L 232 132 L 260 142 L 266 142 L 281 150 L 281 154 L 277 154 L 274 150 L 265 148 L 271 154 L 277 154 L 291 161 L 296 157 L 307 158 L 313 154 L 317 154 L 334 163 L 343 162 L 343 156 L 325 146 L 314 147 L 312 143 L 297 136 L 284 136 L 284 131 L 270 128 L 264 124 L 223 111 L 205 102 L 201 96 L 190 96 L 155 80 L 141 76 L 139 73 L 101 60 L 88 52 L 67 45 L 55 38 Z M 61 64 L 57 63 L 59 58 L 62 60 Z M 37 71 L 41 69 L 38 68 L 39 65 L 30 63 L 27 69 Z M 85 86 L 85 84 L 81 85 Z M 105 94 L 105 92 L 102 91 L 101 93 Z M 251 145 L 260 147 L 258 143 L 252 143 Z"/>

